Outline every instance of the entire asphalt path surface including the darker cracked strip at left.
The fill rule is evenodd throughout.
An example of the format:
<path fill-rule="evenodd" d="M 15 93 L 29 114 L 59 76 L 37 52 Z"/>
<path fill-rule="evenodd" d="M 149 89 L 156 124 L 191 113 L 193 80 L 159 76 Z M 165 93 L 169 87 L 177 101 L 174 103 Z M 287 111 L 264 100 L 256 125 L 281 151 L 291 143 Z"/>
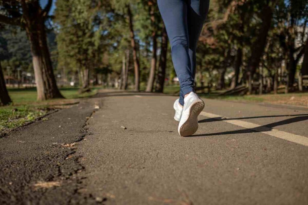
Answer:
<path fill-rule="evenodd" d="M 175 99 L 101 92 L 1 138 L 0 204 L 308 204 L 308 147 L 205 116 L 180 137 Z M 308 138 L 307 108 L 205 104 Z"/>

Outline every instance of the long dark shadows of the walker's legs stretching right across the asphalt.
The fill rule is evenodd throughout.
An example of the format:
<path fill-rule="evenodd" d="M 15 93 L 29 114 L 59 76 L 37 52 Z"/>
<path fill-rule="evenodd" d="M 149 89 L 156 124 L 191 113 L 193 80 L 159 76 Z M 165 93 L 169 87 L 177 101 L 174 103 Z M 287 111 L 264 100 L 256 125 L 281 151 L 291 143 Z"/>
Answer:
<path fill-rule="evenodd" d="M 290 115 L 283 115 L 283 116 L 290 116 Z M 259 127 L 253 128 L 253 129 L 241 129 L 241 130 L 233 130 L 233 131 L 226 131 L 226 132 L 199 134 L 199 135 L 192 135 L 191 137 L 198 137 L 198 136 L 199 137 L 200 136 L 205 137 L 205 136 L 215 136 L 215 135 L 232 135 L 232 134 L 244 134 L 244 133 L 253 133 L 253 132 L 268 132 L 268 131 L 271 131 L 272 128 L 279 126 L 279 125 L 291 124 L 291 123 L 294 123 L 294 122 L 300 122 L 300 121 L 308 120 L 308 114 L 292 115 L 292 116 L 297 116 L 297 117 L 293 117 L 293 118 L 290 118 L 290 119 L 281 120 L 281 121 L 278 121 L 278 122 L 262 125 L 262 126 L 259 126 Z M 270 116 L 270 117 L 275 117 L 275 116 Z M 257 117 L 253 117 L 253 118 L 257 118 Z M 213 118 L 210 118 L 210 119 L 213 119 Z M 237 118 L 237 119 L 248 119 L 248 118 Z M 216 120 L 214 120 L 214 121 L 217 121 L 217 120 L 219 120 L 219 119 L 216 118 Z M 226 119 L 221 119 L 221 120 L 226 120 Z M 227 120 L 231 120 L 231 119 L 227 119 Z"/>

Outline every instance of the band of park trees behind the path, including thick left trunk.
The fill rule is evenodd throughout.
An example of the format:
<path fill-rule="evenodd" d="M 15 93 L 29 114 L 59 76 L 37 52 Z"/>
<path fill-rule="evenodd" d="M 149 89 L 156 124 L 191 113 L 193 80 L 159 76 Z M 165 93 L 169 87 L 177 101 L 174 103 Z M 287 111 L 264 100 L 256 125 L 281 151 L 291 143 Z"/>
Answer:
<path fill-rule="evenodd" d="M 77 74 L 82 90 L 90 81 L 113 81 L 120 89 L 140 91 L 141 85 L 146 92 L 163 92 L 166 79 L 176 76 L 156 0 L 57 0 L 49 16 L 51 5 L 52 0 L 44 8 L 38 0 L 0 0 L 2 26 L 26 33 L 38 100 L 62 97 L 55 69 L 64 78 Z M 307 22 L 308 0 L 212 0 L 198 43 L 196 87 L 302 90 Z M 50 32 L 56 43 L 48 45 Z M 54 46 L 53 58 L 48 46 Z M 15 50 L 6 59 L 18 56 Z"/>

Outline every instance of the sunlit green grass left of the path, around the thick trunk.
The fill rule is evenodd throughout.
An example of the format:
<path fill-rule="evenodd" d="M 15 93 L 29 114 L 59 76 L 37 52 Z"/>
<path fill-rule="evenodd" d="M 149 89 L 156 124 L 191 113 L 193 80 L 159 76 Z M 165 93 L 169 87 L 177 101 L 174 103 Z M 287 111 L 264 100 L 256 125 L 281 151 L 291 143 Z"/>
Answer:
<path fill-rule="evenodd" d="M 20 127 L 38 117 L 47 114 L 51 105 L 69 104 L 71 99 L 90 97 L 97 93 L 99 88 L 91 88 L 89 93 L 78 93 L 78 88 L 61 88 L 60 92 L 66 99 L 52 99 L 48 101 L 37 101 L 35 88 L 8 89 L 13 103 L 0 107 L 0 136 L 11 129 Z M 76 101 L 73 101 L 76 102 Z M 47 120 L 48 118 L 43 118 Z"/>

